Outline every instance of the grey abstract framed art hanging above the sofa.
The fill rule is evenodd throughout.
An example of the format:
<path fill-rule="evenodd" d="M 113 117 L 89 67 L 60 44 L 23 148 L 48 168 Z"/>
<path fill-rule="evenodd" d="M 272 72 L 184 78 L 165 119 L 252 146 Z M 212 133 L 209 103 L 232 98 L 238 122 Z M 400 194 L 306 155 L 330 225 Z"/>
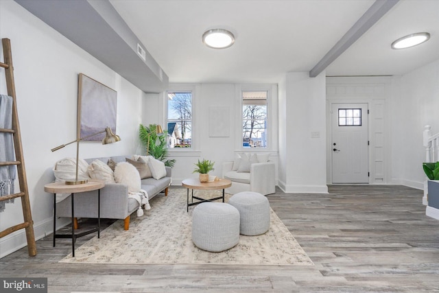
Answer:
<path fill-rule="evenodd" d="M 110 127 L 116 133 L 117 91 L 80 73 L 78 89 L 78 137 L 84 138 Z M 84 141 L 102 141 L 105 133 Z"/>

